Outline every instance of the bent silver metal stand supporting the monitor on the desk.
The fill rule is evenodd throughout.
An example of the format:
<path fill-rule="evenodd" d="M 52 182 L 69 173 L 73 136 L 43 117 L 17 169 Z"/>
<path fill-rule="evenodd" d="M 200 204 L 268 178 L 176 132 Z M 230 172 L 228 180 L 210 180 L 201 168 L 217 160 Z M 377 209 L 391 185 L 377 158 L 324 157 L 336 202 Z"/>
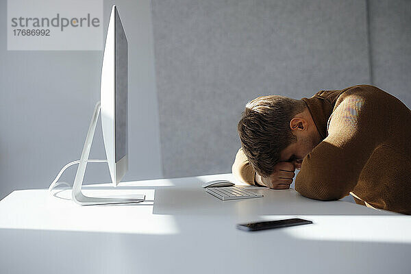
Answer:
<path fill-rule="evenodd" d="M 90 126 L 88 127 L 86 142 L 84 142 L 84 147 L 82 151 L 82 156 L 79 160 L 79 166 L 77 167 L 77 173 L 75 173 L 75 179 L 73 184 L 73 189 L 71 191 L 71 197 L 75 203 L 82 206 L 88 205 L 105 205 L 113 203 L 140 203 L 145 200 L 137 198 L 110 198 L 110 197 L 87 197 L 82 193 L 82 185 L 84 179 L 84 173 L 86 173 L 86 166 L 88 162 L 88 155 L 90 154 L 92 139 L 94 138 L 95 129 L 97 125 L 97 119 L 100 114 L 100 101 L 96 103 L 94 113 L 92 114 Z"/>

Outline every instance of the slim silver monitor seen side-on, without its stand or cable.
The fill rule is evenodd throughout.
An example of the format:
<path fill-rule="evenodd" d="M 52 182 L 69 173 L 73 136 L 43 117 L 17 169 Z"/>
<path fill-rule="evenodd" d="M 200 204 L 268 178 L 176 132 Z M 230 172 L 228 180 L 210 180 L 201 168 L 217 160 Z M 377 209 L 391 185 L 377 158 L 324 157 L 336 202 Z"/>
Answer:
<path fill-rule="evenodd" d="M 114 5 L 105 40 L 101 69 L 101 126 L 112 183 L 128 169 L 128 62 L 127 37 Z"/>

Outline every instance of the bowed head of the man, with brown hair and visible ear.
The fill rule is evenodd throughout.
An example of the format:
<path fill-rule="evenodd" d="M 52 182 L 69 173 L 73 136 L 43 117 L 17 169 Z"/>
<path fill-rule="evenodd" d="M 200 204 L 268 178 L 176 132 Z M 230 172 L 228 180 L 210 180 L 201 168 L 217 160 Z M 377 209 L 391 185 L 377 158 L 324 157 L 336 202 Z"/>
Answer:
<path fill-rule="evenodd" d="M 302 100 L 278 95 L 247 103 L 238 122 L 242 149 L 258 174 L 268 177 L 280 161 L 302 159 L 321 142 L 310 111 Z"/>

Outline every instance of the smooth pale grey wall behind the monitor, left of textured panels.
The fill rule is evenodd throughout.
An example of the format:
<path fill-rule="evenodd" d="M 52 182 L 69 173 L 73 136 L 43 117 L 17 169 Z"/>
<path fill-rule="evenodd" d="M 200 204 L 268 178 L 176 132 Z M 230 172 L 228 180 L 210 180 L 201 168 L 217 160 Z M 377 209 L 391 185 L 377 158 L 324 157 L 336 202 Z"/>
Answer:
<path fill-rule="evenodd" d="M 104 29 L 111 4 L 104 2 Z M 116 1 L 129 42 L 129 172 L 162 177 L 150 1 Z M 46 188 L 79 159 L 99 100 L 102 51 L 7 51 L 7 1 L 0 0 L 0 199 L 14 189 Z M 105 32 L 105 31 L 104 31 Z M 103 37 L 101 38 L 103 40 Z M 97 125 L 91 158 L 105 158 Z M 75 168 L 62 179 L 73 182 Z M 106 164 L 89 164 L 86 182 L 109 182 Z"/>

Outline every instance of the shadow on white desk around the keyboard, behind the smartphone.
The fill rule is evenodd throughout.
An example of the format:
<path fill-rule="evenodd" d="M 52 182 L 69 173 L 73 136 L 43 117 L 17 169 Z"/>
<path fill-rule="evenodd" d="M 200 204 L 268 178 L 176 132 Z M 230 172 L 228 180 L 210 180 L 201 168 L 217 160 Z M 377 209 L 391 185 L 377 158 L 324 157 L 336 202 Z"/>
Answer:
<path fill-rule="evenodd" d="M 221 201 L 197 188 L 156 188 L 154 214 L 203 215 L 392 215 L 345 201 L 317 201 L 301 196 L 294 189 L 273 190 L 252 187 L 262 198 Z"/>

